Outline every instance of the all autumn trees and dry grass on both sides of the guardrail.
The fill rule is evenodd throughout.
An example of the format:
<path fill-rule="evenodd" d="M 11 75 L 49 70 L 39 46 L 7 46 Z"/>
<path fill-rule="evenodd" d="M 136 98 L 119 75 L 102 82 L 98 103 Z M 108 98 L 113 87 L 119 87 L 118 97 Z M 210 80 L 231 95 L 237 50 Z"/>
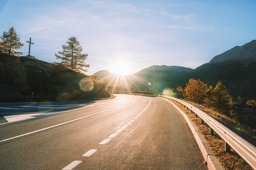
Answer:
<path fill-rule="evenodd" d="M 208 87 L 200 80 L 190 79 L 184 90 L 177 88 L 177 93 L 187 102 L 206 112 L 226 127 L 240 135 L 252 145 L 256 146 L 256 102 L 255 100 L 232 98 L 226 87 L 218 82 L 216 87 Z M 232 148 L 230 152 L 225 151 L 225 141 L 214 132 L 209 132 L 207 124 L 201 124 L 200 118 L 195 113 L 184 108 L 180 103 L 174 102 L 180 107 L 196 124 L 208 144 L 212 148 L 224 169 L 252 169 Z"/>

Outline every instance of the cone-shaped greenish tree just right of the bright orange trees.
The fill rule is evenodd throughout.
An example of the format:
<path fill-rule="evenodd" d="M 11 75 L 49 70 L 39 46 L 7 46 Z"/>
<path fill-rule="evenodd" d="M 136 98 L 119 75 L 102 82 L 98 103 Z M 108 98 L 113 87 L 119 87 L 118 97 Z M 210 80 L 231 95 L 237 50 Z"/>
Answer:
<path fill-rule="evenodd" d="M 211 95 L 211 106 L 213 110 L 228 114 L 232 108 L 232 98 L 227 88 L 219 81 Z"/>

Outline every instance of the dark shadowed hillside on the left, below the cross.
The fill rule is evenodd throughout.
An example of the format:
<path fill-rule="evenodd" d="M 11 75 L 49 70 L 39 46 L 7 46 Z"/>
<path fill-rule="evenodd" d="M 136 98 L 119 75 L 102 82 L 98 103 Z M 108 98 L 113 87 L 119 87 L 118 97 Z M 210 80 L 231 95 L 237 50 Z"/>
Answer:
<path fill-rule="evenodd" d="M 64 101 L 110 97 L 104 89 L 80 88 L 84 74 L 28 57 L 0 54 L 0 102 Z"/>

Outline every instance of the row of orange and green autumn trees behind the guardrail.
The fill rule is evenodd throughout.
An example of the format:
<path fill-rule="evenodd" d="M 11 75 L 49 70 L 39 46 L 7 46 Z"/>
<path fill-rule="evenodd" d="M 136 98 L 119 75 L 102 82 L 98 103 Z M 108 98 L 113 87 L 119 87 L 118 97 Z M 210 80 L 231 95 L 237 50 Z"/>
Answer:
<path fill-rule="evenodd" d="M 239 96 L 237 99 L 232 99 L 228 93 L 228 89 L 219 81 L 215 88 L 207 86 L 199 80 L 190 79 L 182 92 L 179 91 L 181 86 L 177 88 L 177 92 L 182 95 L 185 100 L 206 105 L 214 111 L 229 115 L 232 112 L 233 106 L 237 105 L 243 108 L 245 104 L 256 107 L 254 100 L 247 102 Z"/>

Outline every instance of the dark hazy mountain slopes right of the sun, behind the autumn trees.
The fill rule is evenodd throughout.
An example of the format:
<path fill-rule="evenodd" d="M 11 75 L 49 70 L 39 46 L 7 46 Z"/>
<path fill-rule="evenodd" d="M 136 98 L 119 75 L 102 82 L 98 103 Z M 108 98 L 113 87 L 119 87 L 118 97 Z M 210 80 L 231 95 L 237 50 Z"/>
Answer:
<path fill-rule="evenodd" d="M 95 75 L 101 73 L 95 73 Z M 99 74 L 100 75 L 100 74 Z M 103 74 L 101 74 L 103 75 Z M 230 94 L 243 98 L 256 98 L 256 40 L 236 46 L 220 55 L 215 56 L 209 63 L 196 69 L 179 66 L 151 66 L 133 75 L 115 79 L 117 75 L 111 73 L 110 85 L 130 86 L 140 89 L 151 88 L 151 91 L 162 92 L 164 89 L 186 87 L 191 78 L 200 79 L 208 86 L 216 86 L 221 81 Z M 103 77 L 102 77 L 103 78 Z M 118 82 L 118 83 L 116 83 Z"/>

